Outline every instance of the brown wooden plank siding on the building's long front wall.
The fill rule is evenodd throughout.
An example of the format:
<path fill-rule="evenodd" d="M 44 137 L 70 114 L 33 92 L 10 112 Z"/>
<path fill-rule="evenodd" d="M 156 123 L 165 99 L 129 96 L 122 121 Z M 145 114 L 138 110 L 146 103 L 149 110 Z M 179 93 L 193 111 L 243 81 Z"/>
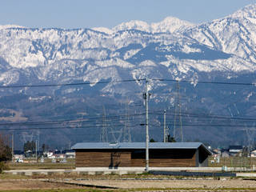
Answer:
<path fill-rule="evenodd" d="M 77 167 L 143 167 L 145 150 L 76 150 Z M 196 166 L 196 150 L 150 150 L 151 167 Z"/>

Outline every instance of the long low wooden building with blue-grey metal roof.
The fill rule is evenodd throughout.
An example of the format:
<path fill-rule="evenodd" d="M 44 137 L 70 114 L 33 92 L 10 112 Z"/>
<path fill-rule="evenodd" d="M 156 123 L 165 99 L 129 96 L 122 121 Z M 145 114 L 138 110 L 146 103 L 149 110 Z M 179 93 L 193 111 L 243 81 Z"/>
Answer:
<path fill-rule="evenodd" d="M 81 142 L 75 150 L 76 167 L 145 167 L 144 142 Z M 210 150 L 201 142 L 150 142 L 150 167 L 208 166 Z"/>

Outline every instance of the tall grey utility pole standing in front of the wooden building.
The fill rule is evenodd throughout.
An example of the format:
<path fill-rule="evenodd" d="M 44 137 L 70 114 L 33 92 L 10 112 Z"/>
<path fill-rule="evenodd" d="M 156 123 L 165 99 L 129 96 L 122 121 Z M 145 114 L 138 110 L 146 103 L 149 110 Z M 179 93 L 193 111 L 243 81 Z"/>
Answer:
<path fill-rule="evenodd" d="M 148 93 L 148 78 L 146 78 L 146 88 L 144 99 L 146 101 L 146 171 L 149 170 L 149 93 Z"/>

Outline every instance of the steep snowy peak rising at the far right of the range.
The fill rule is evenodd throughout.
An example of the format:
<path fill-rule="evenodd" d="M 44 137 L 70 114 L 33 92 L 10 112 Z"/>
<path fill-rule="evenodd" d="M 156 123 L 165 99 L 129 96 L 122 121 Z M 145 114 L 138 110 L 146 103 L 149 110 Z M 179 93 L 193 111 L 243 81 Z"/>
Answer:
<path fill-rule="evenodd" d="M 245 62 L 255 63 L 255 11 L 256 5 L 246 6 L 226 18 L 195 26 L 184 34 L 214 49 L 234 54 Z"/>

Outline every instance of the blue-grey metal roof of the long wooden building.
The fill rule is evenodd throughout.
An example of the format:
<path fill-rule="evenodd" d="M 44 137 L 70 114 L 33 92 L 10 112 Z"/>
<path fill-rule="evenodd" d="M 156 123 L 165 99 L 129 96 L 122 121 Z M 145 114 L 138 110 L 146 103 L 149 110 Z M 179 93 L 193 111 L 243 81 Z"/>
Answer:
<path fill-rule="evenodd" d="M 208 154 L 210 150 L 202 142 L 149 142 L 149 149 L 198 149 L 202 146 Z M 72 150 L 146 149 L 145 142 L 78 142 Z"/>

